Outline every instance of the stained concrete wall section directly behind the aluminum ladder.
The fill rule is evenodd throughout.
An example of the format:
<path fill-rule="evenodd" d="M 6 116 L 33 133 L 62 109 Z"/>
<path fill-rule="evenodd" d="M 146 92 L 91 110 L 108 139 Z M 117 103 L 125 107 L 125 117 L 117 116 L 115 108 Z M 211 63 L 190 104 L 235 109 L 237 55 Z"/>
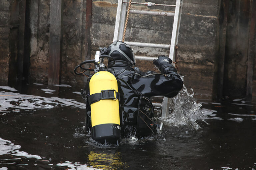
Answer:
<path fill-rule="evenodd" d="M 159 4 L 175 4 L 176 1 L 156 0 Z M 93 1 L 92 52 L 98 46 L 107 46 L 113 40 L 116 0 Z M 174 11 L 173 7 L 147 7 L 132 5 L 132 9 Z M 193 88 L 197 97 L 211 98 L 213 63 L 216 51 L 218 1 L 186 0 L 183 4 L 178 41 L 178 68 L 184 76 L 184 84 Z M 173 17 L 131 14 L 125 41 L 162 43 L 171 42 Z M 137 55 L 169 55 L 169 50 L 133 47 Z M 152 61 L 137 60 L 141 70 L 155 70 Z"/>

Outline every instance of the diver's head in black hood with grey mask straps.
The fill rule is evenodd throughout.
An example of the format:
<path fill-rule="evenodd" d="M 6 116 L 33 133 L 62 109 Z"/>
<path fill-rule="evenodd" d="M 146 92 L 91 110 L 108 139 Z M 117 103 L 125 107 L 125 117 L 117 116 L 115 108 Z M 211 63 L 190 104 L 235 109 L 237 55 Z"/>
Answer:
<path fill-rule="evenodd" d="M 130 45 L 127 45 L 121 41 L 115 41 L 108 46 L 108 48 L 102 48 L 101 54 L 107 54 L 111 56 L 115 61 L 126 61 L 129 66 L 135 65 L 135 56 L 133 49 Z M 113 61 L 109 60 L 108 65 L 112 65 Z"/>

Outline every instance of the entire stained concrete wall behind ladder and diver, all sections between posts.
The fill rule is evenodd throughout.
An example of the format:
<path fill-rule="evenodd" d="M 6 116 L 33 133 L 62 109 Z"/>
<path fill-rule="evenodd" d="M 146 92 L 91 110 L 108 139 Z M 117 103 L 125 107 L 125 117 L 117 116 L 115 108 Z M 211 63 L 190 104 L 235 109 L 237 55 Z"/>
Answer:
<path fill-rule="evenodd" d="M 99 46 L 108 46 L 113 39 L 117 0 L 92 0 L 91 15 L 86 14 L 86 8 L 90 7 L 87 1 L 90 2 L 90 0 L 63 0 L 61 81 L 65 84 L 83 83 L 86 78 L 74 75 L 74 67 L 81 61 L 92 58 Z M 246 71 L 248 70 L 250 11 L 254 1 L 184 0 L 177 66 L 179 73 L 184 76 L 185 86 L 194 89 L 196 98 L 210 99 L 213 97 L 214 89 L 218 89 L 214 76 L 216 78 L 215 72 L 221 69 L 216 64 L 221 58 L 218 53 L 220 46 L 224 46 L 223 79 L 221 80 L 224 85 L 224 96 L 233 94 L 245 96 L 246 79 L 248 79 Z M 2 0 L 0 2 L 0 53 L 2 54 L 0 79 L 5 83 L 8 76 L 9 80 L 17 79 L 18 42 L 22 41 L 19 40 L 21 27 L 19 9 L 21 7 L 17 4 L 18 2 L 21 1 Z M 136 0 L 136 2 L 144 1 Z M 174 0 L 154 0 L 154 2 L 175 4 Z M 223 26 L 221 25 L 223 20 L 221 7 L 225 5 L 229 5 L 229 8 L 227 24 Z M 172 7 L 132 5 L 132 9 L 148 10 L 149 8 L 155 11 L 174 11 Z M 49 17 L 50 0 L 27 0 L 23 50 L 24 55 L 28 55 L 29 59 L 25 64 L 28 67 L 25 69 L 27 69 L 29 83 L 47 84 Z M 169 44 L 172 22 L 172 17 L 131 14 L 125 41 Z M 224 30 L 222 32 L 225 37 L 224 43 L 219 41 L 220 27 Z M 255 46 L 254 49 L 253 47 L 250 49 L 256 51 Z M 134 47 L 134 50 L 137 55 L 144 56 L 169 54 L 168 50 L 158 48 Z M 256 62 L 256 57 L 253 60 Z M 155 70 L 151 61 L 137 60 L 136 66 L 139 66 L 142 71 Z M 256 95 L 256 64 L 253 65 L 253 70 L 253 94 Z"/>

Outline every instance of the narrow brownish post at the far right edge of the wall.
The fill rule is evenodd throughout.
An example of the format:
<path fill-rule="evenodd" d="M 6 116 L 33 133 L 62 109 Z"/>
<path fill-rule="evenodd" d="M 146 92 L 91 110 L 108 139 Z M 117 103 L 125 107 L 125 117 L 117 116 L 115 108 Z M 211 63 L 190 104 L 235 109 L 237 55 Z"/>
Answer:
<path fill-rule="evenodd" d="M 250 4 L 250 30 L 249 30 L 249 41 L 248 41 L 248 59 L 247 59 L 247 86 L 246 86 L 246 97 L 247 100 L 252 99 L 252 86 L 253 86 L 253 67 L 254 67 L 254 56 L 256 55 L 256 0 L 253 0 Z"/>

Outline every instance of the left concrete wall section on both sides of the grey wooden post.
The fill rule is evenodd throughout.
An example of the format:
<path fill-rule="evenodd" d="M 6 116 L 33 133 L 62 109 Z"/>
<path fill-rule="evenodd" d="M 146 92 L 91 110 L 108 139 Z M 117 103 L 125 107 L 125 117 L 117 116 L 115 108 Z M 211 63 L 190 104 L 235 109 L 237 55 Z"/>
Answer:
<path fill-rule="evenodd" d="M 83 78 L 74 76 L 74 67 L 85 60 L 85 0 L 65 0 L 63 6 L 62 83 L 75 84 Z M 49 53 L 50 0 L 35 0 L 30 9 L 30 82 L 47 84 Z"/>

